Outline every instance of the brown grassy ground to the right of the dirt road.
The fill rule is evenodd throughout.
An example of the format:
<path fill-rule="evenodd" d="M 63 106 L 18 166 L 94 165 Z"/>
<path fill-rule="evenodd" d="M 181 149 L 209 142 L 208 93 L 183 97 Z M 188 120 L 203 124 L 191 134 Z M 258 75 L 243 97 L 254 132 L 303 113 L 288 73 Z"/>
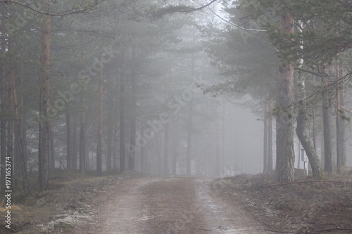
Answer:
<path fill-rule="evenodd" d="M 227 202 L 244 209 L 272 233 L 352 233 L 352 169 L 324 181 L 301 176 L 275 184 L 275 172 L 218 178 L 211 186 Z"/>

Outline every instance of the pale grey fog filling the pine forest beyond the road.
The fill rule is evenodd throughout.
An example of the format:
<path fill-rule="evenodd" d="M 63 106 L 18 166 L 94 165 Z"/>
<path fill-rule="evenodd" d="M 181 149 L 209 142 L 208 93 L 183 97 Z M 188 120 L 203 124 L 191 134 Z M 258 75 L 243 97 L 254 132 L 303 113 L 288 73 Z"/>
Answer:
<path fill-rule="evenodd" d="M 279 48 L 275 17 L 216 1 L 75 4 L 1 8 L 1 157 L 23 177 L 290 171 L 302 148 L 317 178 L 351 164 L 349 53 L 321 67 L 319 46 Z"/>

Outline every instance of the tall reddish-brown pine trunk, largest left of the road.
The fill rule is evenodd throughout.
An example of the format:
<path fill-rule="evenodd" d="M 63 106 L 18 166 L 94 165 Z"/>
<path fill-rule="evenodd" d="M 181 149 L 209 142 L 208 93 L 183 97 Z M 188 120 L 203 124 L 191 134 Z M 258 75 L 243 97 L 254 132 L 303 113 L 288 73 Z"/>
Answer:
<path fill-rule="evenodd" d="M 49 13 L 51 0 L 42 1 L 42 11 Z M 50 74 L 50 36 L 51 17 L 43 15 L 42 32 L 40 37 L 40 106 L 39 106 L 39 190 L 44 190 L 49 182 L 49 74 Z"/>

